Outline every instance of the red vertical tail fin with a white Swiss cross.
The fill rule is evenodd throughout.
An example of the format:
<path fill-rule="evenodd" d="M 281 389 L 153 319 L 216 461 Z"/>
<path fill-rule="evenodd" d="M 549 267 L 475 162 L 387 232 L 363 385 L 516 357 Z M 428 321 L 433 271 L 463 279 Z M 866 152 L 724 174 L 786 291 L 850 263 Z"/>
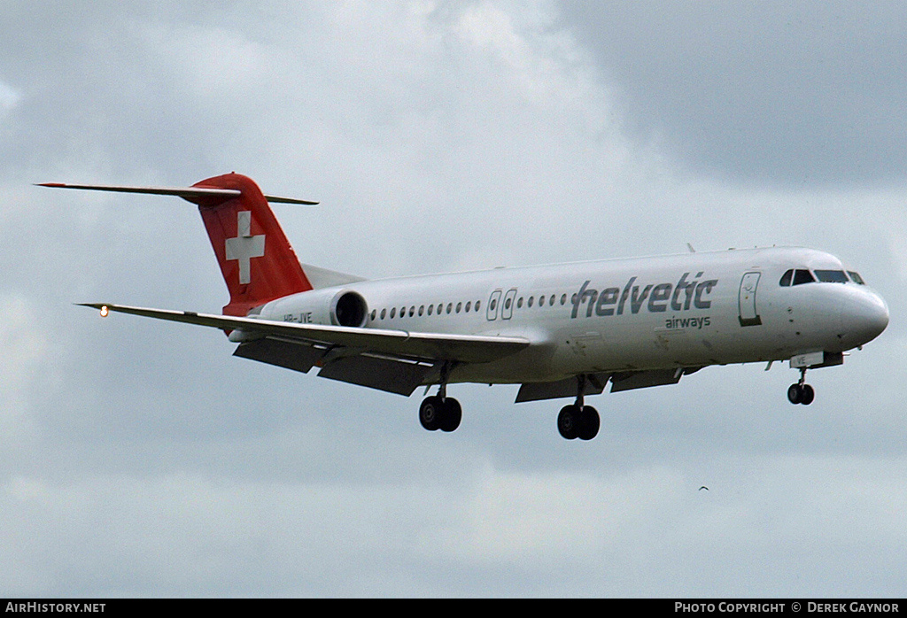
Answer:
<path fill-rule="evenodd" d="M 225 315 L 246 315 L 260 304 L 312 289 L 296 252 L 252 179 L 224 174 L 193 187 L 239 189 L 238 197 L 186 197 L 199 205 L 229 289 Z"/>

